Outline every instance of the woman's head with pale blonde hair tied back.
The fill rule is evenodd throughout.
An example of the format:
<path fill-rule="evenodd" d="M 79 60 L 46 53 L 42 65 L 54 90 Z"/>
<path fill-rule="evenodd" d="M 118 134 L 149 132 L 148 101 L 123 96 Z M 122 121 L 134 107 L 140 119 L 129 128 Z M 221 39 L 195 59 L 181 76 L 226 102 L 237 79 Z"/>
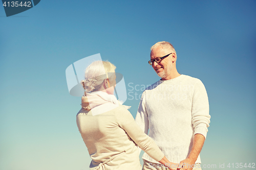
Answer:
<path fill-rule="evenodd" d="M 81 81 L 84 90 L 86 92 L 93 92 L 107 89 L 109 84 L 110 87 L 115 85 L 115 74 L 113 74 L 115 69 L 115 65 L 109 61 L 94 61 L 86 69 L 85 80 Z M 109 79 L 109 82 L 107 79 Z"/>

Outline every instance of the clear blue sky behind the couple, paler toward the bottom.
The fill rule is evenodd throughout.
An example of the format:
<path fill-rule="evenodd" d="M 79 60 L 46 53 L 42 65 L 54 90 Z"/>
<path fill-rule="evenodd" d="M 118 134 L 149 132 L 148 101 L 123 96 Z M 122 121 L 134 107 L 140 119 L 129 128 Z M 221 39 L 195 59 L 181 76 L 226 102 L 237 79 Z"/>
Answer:
<path fill-rule="evenodd" d="M 80 98 L 69 94 L 66 68 L 100 53 L 133 92 L 124 104 L 135 117 L 135 92 L 142 91 L 131 86 L 159 80 L 147 63 L 158 41 L 174 45 L 180 74 L 206 87 L 211 123 L 202 164 L 256 163 L 255 7 L 255 1 L 42 0 L 10 17 L 0 7 L 0 169 L 89 169 L 76 127 Z"/>

